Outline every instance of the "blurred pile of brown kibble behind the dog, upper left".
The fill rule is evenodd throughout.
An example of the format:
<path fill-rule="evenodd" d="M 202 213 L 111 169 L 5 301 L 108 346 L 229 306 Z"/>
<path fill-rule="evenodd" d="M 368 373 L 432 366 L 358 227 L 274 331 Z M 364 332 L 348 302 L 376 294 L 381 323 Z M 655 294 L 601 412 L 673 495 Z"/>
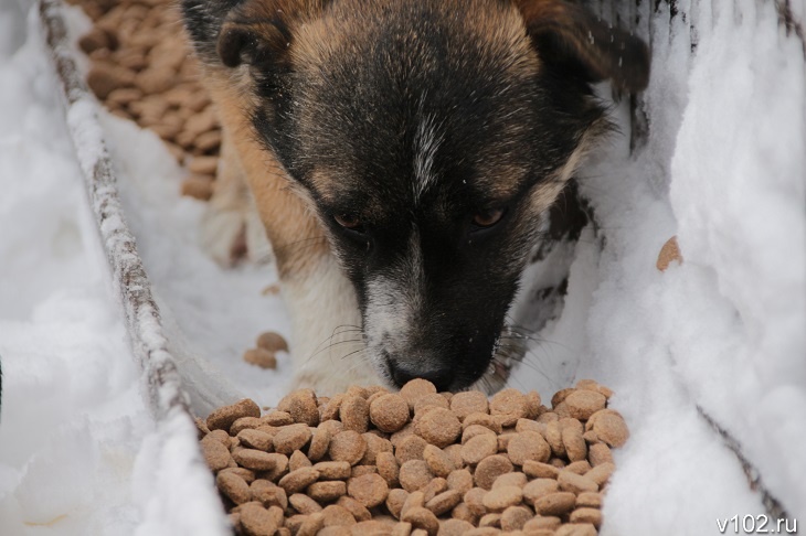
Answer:
<path fill-rule="evenodd" d="M 93 20 L 78 41 L 87 85 L 116 116 L 153 130 L 190 171 L 182 193 L 206 200 L 221 128 L 172 0 L 71 0 Z"/>

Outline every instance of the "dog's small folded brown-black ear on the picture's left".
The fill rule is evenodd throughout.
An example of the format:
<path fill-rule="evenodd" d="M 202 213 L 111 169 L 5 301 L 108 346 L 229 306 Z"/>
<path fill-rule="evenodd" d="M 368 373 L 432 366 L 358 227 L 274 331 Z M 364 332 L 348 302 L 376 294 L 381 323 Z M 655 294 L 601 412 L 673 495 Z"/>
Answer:
<path fill-rule="evenodd" d="M 246 0 L 219 31 L 216 52 L 227 67 L 265 65 L 285 55 L 293 25 L 317 17 L 327 0 Z"/>

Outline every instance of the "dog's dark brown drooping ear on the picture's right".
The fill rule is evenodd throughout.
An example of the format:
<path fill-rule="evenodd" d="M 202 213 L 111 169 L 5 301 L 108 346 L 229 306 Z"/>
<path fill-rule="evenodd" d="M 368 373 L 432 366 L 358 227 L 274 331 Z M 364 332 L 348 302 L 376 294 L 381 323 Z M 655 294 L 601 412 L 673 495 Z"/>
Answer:
<path fill-rule="evenodd" d="M 639 92 L 649 82 L 649 50 L 638 37 L 611 28 L 573 0 L 515 0 L 539 57 L 591 83 L 612 79 Z"/>

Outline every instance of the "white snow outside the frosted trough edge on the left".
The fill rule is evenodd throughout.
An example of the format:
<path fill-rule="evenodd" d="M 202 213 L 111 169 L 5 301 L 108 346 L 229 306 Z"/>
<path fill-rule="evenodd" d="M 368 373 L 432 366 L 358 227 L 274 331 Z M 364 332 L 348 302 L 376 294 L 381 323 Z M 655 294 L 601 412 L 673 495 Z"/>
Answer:
<path fill-rule="evenodd" d="M 0 534 L 225 534 L 194 426 L 144 404 L 38 13 L 25 26 L 22 11 L 0 9 L 28 28 L 0 42 Z M 102 154 L 98 138 L 79 153 Z"/>

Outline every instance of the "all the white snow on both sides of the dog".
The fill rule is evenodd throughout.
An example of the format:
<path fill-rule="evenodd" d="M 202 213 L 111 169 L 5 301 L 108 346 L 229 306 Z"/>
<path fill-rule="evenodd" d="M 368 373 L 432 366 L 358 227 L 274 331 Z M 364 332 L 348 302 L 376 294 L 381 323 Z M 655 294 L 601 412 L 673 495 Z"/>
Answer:
<path fill-rule="evenodd" d="M 626 103 L 614 107 L 624 136 L 582 173 L 600 229 L 580 242 L 562 317 L 512 383 L 543 397 L 582 377 L 616 390 L 633 435 L 602 534 L 719 534 L 718 519 L 738 515 L 741 529 L 742 516 L 765 514 L 700 411 L 735 438 L 803 530 L 803 44 L 771 1 L 677 2 L 675 17 L 666 6 L 649 17 L 655 2 L 644 3 L 632 18 L 651 34 L 649 137 L 630 156 Z M 29 7 L 0 1 L 0 534 L 223 534 L 214 508 L 173 507 L 212 480 L 168 470 L 195 460 L 192 437 L 174 429 L 179 441 L 165 448 L 142 401 Z M 804 20 L 804 3 L 792 8 Z M 280 300 L 262 293 L 271 268 L 221 270 L 197 246 L 203 207 L 179 197 L 181 170 L 157 137 L 110 116 L 102 124 L 192 407 L 276 400 L 286 364 L 256 371 L 240 358 L 261 331 L 287 333 Z M 685 262 L 659 272 L 672 235 Z M 191 473 L 197 489 L 179 482 Z M 195 525 L 170 526 L 171 515 Z"/>

